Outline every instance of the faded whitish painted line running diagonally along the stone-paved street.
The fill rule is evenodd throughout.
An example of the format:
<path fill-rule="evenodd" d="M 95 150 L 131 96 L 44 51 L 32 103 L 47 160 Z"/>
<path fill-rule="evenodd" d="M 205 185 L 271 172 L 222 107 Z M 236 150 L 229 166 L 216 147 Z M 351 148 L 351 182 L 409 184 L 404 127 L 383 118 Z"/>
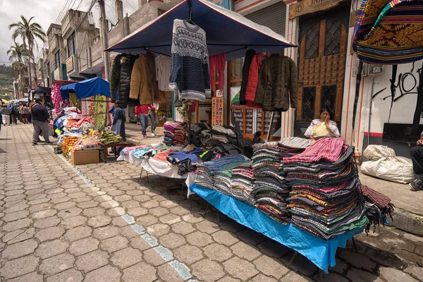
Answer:
<path fill-rule="evenodd" d="M 51 147 L 53 149 L 53 147 Z M 130 216 L 129 214 L 125 214 L 125 209 L 123 207 L 119 207 L 119 203 L 113 200 L 112 197 L 109 195 L 106 195 L 106 192 L 102 191 L 100 188 L 98 188 L 90 178 L 87 178 L 87 176 L 84 175 L 78 168 L 75 168 L 69 161 L 66 160 L 65 157 L 62 155 L 58 155 L 68 166 L 71 166 L 73 171 L 78 174 L 78 176 L 84 180 L 85 184 L 88 185 L 94 192 L 97 192 L 98 195 L 101 195 L 102 198 L 108 202 L 111 207 L 114 208 L 115 212 L 122 217 L 123 220 L 125 220 L 132 228 L 135 233 L 140 235 L 140 237 L 145 240 L 147 244 L 149 244 L 151 247 L 153 247 L 153 250 L 155 250 L 164 261 L 171 266 L 176 273 L 180 276 L 180 278 L 183 278 L 184 281 L 192 278 L 192 274 L 190 272 L 190 269 L 188 266 L 183 264 L 182 262 L 179 262 L 178 259 L 174 259 L 173 253 L 171 250 L 168 250 L 168 248 L 164 247 L 163 245 L 159 245 L 159 242 L 157 241 L 157 238 L 147 233 L 146 229 L 135 223 L 135 219 L 133 216 Z M 189 282 L 198 282 L 197 280 L 190 280 Z"/>

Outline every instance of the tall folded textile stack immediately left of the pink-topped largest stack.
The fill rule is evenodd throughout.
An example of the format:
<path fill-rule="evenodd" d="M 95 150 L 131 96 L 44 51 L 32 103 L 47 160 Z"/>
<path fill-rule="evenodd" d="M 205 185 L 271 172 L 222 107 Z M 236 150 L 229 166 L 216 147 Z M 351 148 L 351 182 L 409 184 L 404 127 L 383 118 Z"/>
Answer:
<path fill-rule="evenodd" d="M 288 224 L 286 197 L 289 195 L 289 188 L 283 173 L 283 150 L 278 142 L 267 142 L 254 149 L 252 168 L 256 181 L 252 195 L 258 209 L 272 219 Z"/>

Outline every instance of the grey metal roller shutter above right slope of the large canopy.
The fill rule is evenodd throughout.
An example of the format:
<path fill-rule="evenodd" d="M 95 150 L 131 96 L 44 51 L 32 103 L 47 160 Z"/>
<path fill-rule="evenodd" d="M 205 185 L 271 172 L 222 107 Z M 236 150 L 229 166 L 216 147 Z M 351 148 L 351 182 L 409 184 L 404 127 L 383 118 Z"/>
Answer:
<path fill-rule="evenodd" d="M 245 18 L 285 36 L 286 5 L 282 1 L 250 13 Z"/>

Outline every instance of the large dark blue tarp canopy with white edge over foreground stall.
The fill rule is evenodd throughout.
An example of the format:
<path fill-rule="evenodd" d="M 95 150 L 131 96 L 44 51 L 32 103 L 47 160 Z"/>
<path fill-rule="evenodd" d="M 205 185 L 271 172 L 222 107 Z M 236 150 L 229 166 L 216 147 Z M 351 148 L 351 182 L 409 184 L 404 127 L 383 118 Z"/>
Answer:
<path fill-rule="evenodd" d="M 226 53 L 227 61 L 244 56 L 246 49 L 264 52 L 295 47 L 269 27 L 254 23 L 239 13 L 207 0 L 185 0 L 107 50 L 125 54 L 142 54 L 150 50 L 170 56 L 173 20 L 190 18 L 206 32 L 209 56 Z"/>

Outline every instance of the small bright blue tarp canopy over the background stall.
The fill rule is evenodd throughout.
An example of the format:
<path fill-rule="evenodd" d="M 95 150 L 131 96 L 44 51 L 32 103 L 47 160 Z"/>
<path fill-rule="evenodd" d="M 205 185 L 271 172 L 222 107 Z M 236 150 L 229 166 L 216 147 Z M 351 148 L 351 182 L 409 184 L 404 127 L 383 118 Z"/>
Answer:
<path fill-rule="evenodd" d="M 69 99 L 69 93 L 71 92 L 75 93 L 78 99 L 92 97 L 98 94 L 110 98 L 110 83 L 103 78 L 97 77 L 60 87 L 61 97 L 64 100 Z"/>

